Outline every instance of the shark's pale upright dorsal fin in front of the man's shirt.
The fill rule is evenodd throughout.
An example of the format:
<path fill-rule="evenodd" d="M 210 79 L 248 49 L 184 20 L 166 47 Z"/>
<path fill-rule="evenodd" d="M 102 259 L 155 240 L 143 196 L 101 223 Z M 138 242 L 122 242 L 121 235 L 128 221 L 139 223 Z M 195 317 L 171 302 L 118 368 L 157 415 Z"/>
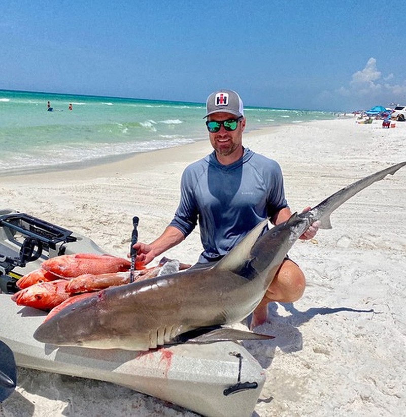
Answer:
<path fill-rule="evenodd" d="M 219 270 L 235 270 L 251 259 L 251 248 L 262 233 L 268 219 L 258 223 L 239 243 L 237 243 L 213 268 Z"/>

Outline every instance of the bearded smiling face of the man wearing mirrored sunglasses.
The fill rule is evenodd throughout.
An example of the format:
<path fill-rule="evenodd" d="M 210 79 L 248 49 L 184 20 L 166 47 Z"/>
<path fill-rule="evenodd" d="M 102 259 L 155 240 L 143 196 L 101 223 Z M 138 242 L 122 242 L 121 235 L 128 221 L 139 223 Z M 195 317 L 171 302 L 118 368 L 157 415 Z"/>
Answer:
<path fill-rule="evenodd" d="M 238 119 L 230 113 L 214 113 L 208 117 L 208 120 L 224 121 L 229 119 Z M 238 122 L 235 131 L 226 131 L 224 126 L 221 125 L 220 130 L 215 133 L 209 133 L 210 143 L 212 144 L 216 153 L 222 156 L 229 156 L 235 150 L 242 147 L 243 132 L 245 128 L 245 118 Z"/>

